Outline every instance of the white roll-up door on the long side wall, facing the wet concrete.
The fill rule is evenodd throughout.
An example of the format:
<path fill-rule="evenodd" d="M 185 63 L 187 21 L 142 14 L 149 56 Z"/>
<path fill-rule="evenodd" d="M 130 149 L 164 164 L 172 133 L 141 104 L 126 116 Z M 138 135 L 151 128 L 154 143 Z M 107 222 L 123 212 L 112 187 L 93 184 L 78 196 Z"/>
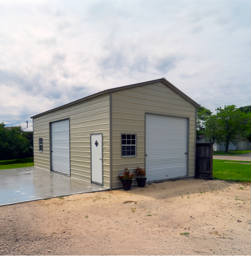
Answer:
<path fill-rule="evenodd" d="M 53 122 L 52 135 L 52 171 L 70 175 L 69 162 L 69 119 Z"/>

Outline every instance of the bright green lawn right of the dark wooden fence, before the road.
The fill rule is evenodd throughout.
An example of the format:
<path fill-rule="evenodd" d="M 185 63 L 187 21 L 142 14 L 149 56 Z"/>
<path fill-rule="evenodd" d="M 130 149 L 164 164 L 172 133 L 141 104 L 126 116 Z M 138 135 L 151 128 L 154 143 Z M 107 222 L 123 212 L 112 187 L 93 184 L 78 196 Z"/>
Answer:
<path fill-rule="evenodd" d="M 232 161 L 232 160 L 213 160 L 213 179 L 226 180 L 235 182 L 251 182 L 251 165 L 242 165 L 224 162 L 244 162 L 248 161 Z"/>

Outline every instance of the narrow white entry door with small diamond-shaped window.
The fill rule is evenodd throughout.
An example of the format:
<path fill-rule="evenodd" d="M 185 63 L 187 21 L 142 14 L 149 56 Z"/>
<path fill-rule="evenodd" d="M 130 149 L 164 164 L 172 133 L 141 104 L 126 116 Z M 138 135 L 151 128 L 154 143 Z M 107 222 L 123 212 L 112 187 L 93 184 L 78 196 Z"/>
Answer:
<path fill-rule="evenodd" d="M 103 185 L 102 134 L 91 134 L 92 183 Z"/>

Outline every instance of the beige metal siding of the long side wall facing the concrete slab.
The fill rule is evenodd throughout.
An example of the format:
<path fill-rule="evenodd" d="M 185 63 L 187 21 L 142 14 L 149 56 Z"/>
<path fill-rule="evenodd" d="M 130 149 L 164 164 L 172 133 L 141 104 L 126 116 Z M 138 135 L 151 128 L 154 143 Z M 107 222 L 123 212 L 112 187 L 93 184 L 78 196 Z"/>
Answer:
<path fill-rule="evenodd" d="M 103 133 L 103 181 L 110 188 L 109 94 L 34 118 L 34 165 L 50 170 L 49 122 L 70 120 L 71 177 L 91 181 L 90 135 Z M 38 138 L 43 138 L 39 152 Z"/>

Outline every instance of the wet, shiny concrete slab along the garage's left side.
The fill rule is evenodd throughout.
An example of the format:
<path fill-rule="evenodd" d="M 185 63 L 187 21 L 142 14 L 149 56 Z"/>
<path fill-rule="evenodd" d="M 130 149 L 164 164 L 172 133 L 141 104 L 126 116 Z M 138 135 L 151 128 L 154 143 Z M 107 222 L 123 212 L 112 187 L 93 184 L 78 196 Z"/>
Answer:
<path fill-rule="evenodd" d="M 0 206 L 107 190 L 37 167 L 0 170 Z"/>

